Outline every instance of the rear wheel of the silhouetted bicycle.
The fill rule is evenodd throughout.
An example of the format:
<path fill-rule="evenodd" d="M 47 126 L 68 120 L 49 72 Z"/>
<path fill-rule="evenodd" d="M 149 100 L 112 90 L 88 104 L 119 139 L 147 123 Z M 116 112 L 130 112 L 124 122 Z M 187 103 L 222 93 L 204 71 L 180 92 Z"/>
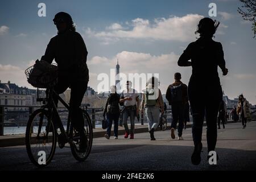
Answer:
<path fill-rule="evenodd" d="M 93 141 L 93 129 L 92 129 L 92 122 L 90 120 L 89 114 L 82 110 L 84 116 L 84 131 L 87 139 L 87 148 L 85 152 L 80 152 L 80 135 L 79 132 L 71 125 L 71 139 L 73 142 L 70 143 L 71 152 L 74 158 L 78 161 L 84 161 L 88 158 L 90 154 L 90 150 L 92 149 L 92 141 Z"/>

